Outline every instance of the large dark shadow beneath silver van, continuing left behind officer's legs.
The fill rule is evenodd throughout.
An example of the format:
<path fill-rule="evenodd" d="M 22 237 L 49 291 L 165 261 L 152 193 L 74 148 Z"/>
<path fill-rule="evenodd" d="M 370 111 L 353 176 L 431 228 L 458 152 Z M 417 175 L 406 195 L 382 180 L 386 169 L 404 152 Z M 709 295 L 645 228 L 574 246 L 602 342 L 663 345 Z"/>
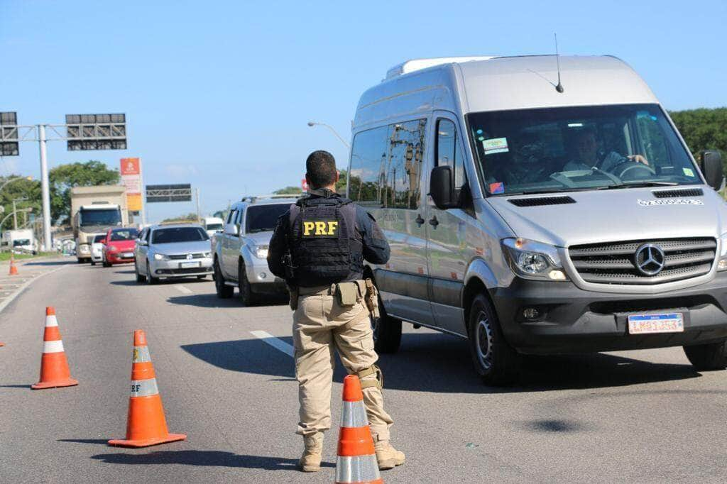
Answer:
<path fill-rule="evenodd" d="M 281 338 L 292 345 L 292 338 Z M 294 377 L 288 355 L 259 339 L 185 344 L 190 355 L 219 368 L 286 378 Z M 620 387 L 701 376 L 688 364 L 650 363 L 618 355 L 530 356 L 523 358 L 520 379 L 512 387 L 487 387 L 475 374 L 467 342 L 444 334 L 402 335 L 401 350 L 380 355 L 384 387 L 393 390 L 454 393 L 509 393 Z M 337 361 L 334 379 L 345 370 Z M 545 424 L 547 426 L 547 424 Z"/>

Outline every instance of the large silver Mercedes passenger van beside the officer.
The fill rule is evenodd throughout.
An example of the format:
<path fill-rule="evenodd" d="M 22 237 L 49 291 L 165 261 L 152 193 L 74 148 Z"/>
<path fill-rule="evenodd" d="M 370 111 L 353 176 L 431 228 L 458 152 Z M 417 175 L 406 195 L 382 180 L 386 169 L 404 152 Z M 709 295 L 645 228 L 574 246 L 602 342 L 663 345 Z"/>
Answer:
<path fill-rule="evenodd" d="M 348 169 L 391 245 L 366 268 L 377 350 L 406 321 L 467 338 L 487 384 L 522 354 L 683 346 L 723 369 L 722 184 L 616 57 L 404 62 L 361 96 Z"/>

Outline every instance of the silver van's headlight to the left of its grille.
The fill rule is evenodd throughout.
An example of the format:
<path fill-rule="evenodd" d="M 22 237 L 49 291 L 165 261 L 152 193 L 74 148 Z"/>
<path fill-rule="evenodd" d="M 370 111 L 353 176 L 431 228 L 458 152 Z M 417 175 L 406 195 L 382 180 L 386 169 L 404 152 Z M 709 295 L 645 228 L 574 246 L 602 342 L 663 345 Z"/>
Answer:
<path fill-rule="evenodd" d="M 505 238 L 502 249 L 510 268 L 521 278 L 568 281 L 558 249 L 554 246 L 524 238 Z"/>

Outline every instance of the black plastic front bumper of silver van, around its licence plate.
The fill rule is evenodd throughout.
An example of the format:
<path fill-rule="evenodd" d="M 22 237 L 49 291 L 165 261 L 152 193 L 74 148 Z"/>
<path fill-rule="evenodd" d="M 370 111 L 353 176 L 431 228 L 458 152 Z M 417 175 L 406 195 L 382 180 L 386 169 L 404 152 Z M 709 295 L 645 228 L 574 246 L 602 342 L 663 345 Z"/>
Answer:
<path fill-rule="evenodd" d="M 700 286 L 660 294 L 613 294 L 571 282 L 515 278 L 492 291 L 505 339 L 531 354 L 635 350 L 717 342 L 727 338 L 727 273 Z M 534 309 L 536 318 L 524 312 Z M 629 315 L 681 312 L 682 333 L 628 334 Z"/>

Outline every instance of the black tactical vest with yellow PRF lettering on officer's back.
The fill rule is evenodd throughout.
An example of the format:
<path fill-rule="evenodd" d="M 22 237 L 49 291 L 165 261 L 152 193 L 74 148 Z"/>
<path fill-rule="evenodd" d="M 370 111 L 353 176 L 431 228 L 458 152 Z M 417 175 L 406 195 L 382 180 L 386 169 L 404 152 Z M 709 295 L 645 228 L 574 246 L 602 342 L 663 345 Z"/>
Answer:
<path fill-rule="evenodd" d="M 327 286 L 361 278 L 363 240 L 356 206 L 338 196 L 301 198 L 290 207 L 289 247 L 295 283 Z"/>

